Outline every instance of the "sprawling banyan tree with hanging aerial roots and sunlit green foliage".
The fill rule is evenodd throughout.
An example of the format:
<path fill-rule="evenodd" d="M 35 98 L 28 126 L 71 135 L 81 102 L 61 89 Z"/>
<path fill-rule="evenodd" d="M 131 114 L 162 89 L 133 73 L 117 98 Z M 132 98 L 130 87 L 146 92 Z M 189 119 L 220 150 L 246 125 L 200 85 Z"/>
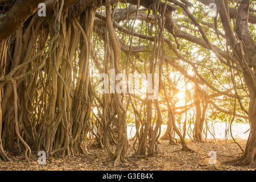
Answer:
<path fill-rule="evenodd" d="M 250 124 L 233 162 L 254 166 L 255 7 L 250 0 L 1 0 L 0 159 L 87 154 L 93 140 L 109 162 L 126 162 L 130 122 L 136 158 L 155 155 L 164 123 L 164 138 L 193 152 L 186 135 L 204 142 L 217 113 Z M 98 74 L 113 70 L 104 90 L 115 90 L 113 82 L 127 89 L 117 77 L 137 72 L 157 77 L 159 96 L 152 99 L 147 86 L 100 92 Z M 185 104 L 175 100 L 179 82 Z"/>

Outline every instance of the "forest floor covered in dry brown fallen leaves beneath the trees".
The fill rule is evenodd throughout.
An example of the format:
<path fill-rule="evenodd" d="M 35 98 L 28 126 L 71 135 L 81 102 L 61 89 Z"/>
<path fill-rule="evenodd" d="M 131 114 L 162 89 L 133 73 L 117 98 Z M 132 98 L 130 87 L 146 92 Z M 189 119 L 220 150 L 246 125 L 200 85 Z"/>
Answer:
<path fill-rule="evenodd" d="M 217 140 L 216 142 L 208 141 L 207 143 L 187 142 L 188 147 L 195 152 L 180 151 L 180 144 L 171 146 L 168 141 L 160 141 L 158 145 L 158 153 L 154 157 L 147 159 L 134 159 L 130 156 L 134 154 L 133 142 L 129 142 L 130 146 L 127 152 L 130 158 L 129 162 L 119 164 L 113 167 L 113 164 L 106 163 L 107 153 L 105 149 L 97 148 L 96 146 L 88 146 L 88 155 L 63 157 L 53 156 L 47 159 L 46 165 L 39 165 L 37 162 L 38 156 L 34 155 L 35 161 L 27 162 L 24 155 L 10 155 L 13 162 L 0 161 L 0 171 L 3 170 L 255 170 L 254 168 L 232 166 L 224 162 L 236 159 L 241 150 L 232 140 Z M 238 143 L 245 148 L 246 140 L 238 140 Z M 210 165 L 208 155 L 210 151 L 215 151 L 217 154 L 217 164 Z"/>

